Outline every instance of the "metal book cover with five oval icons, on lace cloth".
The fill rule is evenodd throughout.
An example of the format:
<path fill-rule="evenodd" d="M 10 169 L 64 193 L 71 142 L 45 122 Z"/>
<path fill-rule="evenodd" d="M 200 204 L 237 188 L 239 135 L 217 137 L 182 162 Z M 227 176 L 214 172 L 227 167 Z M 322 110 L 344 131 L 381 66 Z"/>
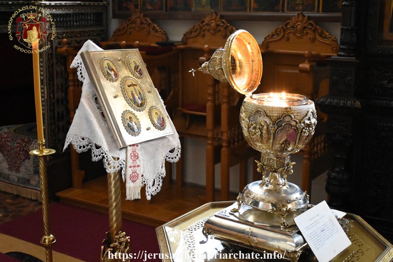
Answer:
<path fill-rule="evenodd" d="M 138 49 L 84 51 L 81 57 L 119 148 L 174 133 Z"/>

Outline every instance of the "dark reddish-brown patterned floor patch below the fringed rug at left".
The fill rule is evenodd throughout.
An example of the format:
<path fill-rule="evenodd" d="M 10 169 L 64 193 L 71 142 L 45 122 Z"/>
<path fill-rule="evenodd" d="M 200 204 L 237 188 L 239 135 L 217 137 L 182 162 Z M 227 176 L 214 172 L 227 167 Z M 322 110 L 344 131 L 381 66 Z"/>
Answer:
<path fill-rule="evenodd" d="M 0 191 L 0 224 L 41 209 L 36 200 Z"/>

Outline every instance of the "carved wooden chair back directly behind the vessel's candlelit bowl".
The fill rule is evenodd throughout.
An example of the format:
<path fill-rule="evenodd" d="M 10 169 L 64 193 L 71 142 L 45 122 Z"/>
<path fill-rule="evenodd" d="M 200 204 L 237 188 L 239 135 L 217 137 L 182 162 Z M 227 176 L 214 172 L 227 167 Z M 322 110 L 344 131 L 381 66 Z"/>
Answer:
<path fill-rule="evenodd" d="M 285 91 L 316 99 L 318 92 L 327 92 L 314 84 L 318 78 L 327 78 L 328 68 L 320 76 L 320 69 L 312 61 L 335 56 L 338 52 L 336 37 L 317 26 L 308 16 L 298 13 L 291 20 L 274 29 L 261 44 L 263 76 L 260 92 Z M 306 74 L 301 74 L 306 73 Z M 324 75 L 324 76 L 322 76 Z"/>

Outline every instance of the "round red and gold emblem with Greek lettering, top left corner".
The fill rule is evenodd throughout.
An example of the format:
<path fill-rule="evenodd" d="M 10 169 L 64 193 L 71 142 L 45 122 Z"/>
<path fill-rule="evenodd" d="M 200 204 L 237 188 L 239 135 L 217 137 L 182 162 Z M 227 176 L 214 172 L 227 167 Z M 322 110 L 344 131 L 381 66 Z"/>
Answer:
<path fill-rule="evenodd" d="M 14 39 L 11 32 L 14 21 L 16 23 L 15 36 L 18 41 L 14 45 L 16 50 L 31 53 L 31 43 L 38 40 L 38 44 L 47 43 L 46 46 L 39 49 L 39 52 L 42 52 L 51 46 L 47 40 L 55 39 L 55 23 L 51 14 L 45 12 L 42 7 L 24 6 L 12 14 L 8 21 L 8 38 L 11 41 Z M 52 30 L 50 39 L 48 39 L 48 30 Z"/>

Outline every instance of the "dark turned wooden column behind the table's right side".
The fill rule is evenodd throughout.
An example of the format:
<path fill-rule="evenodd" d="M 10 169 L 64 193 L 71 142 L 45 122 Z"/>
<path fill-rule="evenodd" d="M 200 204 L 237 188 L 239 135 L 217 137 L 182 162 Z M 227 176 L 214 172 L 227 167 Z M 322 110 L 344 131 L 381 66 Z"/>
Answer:
<path fill-rule="evenodd" d="M 328 59 L 329 95 L 317 100 L 321 111 L 328 114 L 326 139 L 334 150 L 325 189 L 329 194 L 329 206 L 339 210 L 348 210 L 351 206 L 354 133 L 357 128 L 356 116 L 361 108 L 356 97 L 361 79 L 361 63 L 357 57 L 357 5 L 356 0 L 344 1 L 342 4 L 340 49 L 337 57 Z"/>

